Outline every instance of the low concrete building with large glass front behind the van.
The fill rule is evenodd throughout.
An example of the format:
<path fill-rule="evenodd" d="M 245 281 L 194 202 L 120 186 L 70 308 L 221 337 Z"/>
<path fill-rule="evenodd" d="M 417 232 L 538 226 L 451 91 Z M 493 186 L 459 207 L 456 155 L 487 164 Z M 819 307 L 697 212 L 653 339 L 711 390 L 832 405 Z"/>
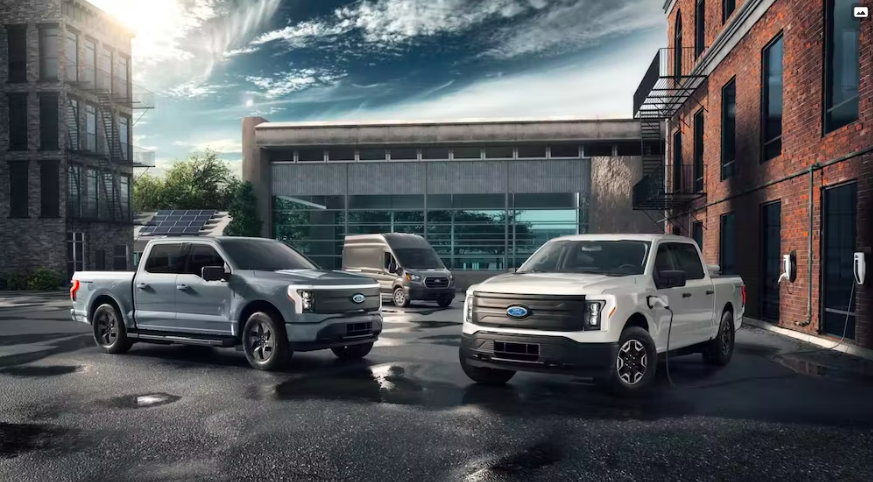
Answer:
<path fill-rule="evenodd" d="M 478 273 L 459 279 L 518 267 L 564 234 L 659 232 L 631 207 L 640 151 L 634 120 L 243 120 L 264 236 L 338 269 L 346 234 L 415 233 Z"/>

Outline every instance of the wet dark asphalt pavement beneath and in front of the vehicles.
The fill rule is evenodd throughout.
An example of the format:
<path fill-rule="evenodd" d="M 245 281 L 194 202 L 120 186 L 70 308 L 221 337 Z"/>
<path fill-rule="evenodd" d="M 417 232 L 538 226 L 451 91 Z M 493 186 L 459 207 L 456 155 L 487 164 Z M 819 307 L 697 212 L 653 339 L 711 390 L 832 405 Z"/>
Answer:
<path fill-rule="evenodd" d="M 0 480 L 873 480 L 873 380 L 776 356 L 807 345 L 744 329 L 727 368 L 676 358 L 681 388 L 661 365 L 651 396 L 622 400 L 565 377 L 472 385 L 461 310 L 406 311 L 359 363 L 263 373 L 234 350 L 111 356 L 85 334 L 2 367 Z"/>

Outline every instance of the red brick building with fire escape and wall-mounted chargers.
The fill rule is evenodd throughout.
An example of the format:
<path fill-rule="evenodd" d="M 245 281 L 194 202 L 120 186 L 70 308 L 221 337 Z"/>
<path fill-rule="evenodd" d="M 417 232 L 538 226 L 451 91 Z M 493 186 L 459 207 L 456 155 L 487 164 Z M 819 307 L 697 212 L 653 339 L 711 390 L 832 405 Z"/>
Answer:
<path fill-rule="evenodd" d="M 873 262 L 873 22 L 855 3 L 668 0 L 668 48 L 634 97 L 666 156 L 645 157 L 634 204 L 740 274 L 748 316 L 871 348 L 852 259 Z M 777 284 L 788 253 L 797 277 Z"/>

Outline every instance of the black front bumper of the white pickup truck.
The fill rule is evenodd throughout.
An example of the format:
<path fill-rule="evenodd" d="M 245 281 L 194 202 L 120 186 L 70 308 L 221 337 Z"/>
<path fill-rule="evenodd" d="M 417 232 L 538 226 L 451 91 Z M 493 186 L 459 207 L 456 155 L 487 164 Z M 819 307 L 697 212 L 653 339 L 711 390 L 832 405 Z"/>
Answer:
<path fill-rule="evenodd" d="M 600 377 L 611 373 L 618 344 L 477 332 L 461 336 L 460 350 L 461 357 L 474 367 Z"/>

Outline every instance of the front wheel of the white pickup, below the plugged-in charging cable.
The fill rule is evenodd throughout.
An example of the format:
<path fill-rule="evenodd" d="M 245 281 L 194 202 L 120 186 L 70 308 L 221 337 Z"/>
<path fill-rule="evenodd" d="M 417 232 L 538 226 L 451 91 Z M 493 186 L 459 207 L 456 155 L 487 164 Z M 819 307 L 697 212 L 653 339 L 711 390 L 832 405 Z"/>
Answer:
<path fill-rule="evenodd" d="M 619 395 L 643 393 L 651 388 L 658 367 L 658 352 L 649 333 L 632 326 L 621 332 L 618 353 L 609 377 L 598 379 Z"/>

